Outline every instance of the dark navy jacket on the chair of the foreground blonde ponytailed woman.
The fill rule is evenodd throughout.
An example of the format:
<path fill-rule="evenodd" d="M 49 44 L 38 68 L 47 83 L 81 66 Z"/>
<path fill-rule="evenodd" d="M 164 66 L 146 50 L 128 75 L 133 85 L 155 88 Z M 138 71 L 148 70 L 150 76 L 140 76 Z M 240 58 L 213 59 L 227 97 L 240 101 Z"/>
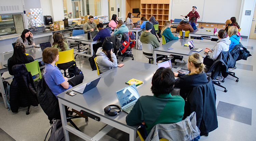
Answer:
<path fill-rule="evenodd" d="M 210 77 L 208 83 L 194 87 L 185 100 L 184 118 L 196 112 L 197 127 L 203 136 L 218 127 L 216 91 Z"/>

